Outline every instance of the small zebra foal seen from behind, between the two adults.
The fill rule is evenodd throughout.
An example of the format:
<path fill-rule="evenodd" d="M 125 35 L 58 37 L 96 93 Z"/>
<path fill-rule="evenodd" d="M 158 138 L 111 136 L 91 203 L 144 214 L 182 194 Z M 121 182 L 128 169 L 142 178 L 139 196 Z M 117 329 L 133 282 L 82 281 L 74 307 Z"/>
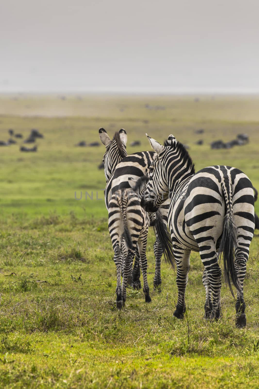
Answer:
<path fill-rule="evenodd" d="M 147 278 L 146 244 L 149 226 L 156 229 L 160 242 L 167 244 L 170 241 L 169 233 L 164 230 L 163 218 L 158 210 L 156 213 L 146 212 L 140 205 L 148 182 L 148 177 L 140 177 L 137 181 L 129 178 L 132 189 L 118 189 L 111 196 L 108 205 L 109 233 L 114 251 L 114 262 L 117 270 L 116 307 L 122 309 L 126 301 L 126 284 L 132 268 L 132 261 L 136 247 L 139 252 L 139 265 L 143 274 L 143 292 L 146 303 L 151 302 Z M 124 259 L 124 260 L 123 260 Z M 121 271 L 123 281 L 121 286 Z"/>

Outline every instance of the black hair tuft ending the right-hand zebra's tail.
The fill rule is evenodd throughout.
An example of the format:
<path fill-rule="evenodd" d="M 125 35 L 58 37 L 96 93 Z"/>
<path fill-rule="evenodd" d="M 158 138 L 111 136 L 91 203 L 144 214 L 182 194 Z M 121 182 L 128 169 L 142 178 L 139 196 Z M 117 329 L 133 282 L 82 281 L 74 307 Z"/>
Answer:
<path fill-rule="evenodd" d="M 235 295 L 233 293 L 233 289 L 231 286 L 231 282 L 230 282 L 231 280 L 233 282 L 233 285 L 236 287 L 236 289 L 238 291 L 241 291 L 240 285 L 238 283 L 236 269 L 234 266 L 235 248 L 236 248 L 236 229 L 233 220 L 233 214 L 232 212 L 227 212 L 226 216 L 224 217 L 224 226 L 223 226 L 223 233 L 221 238 L 221 244 L 219 247 L 219 252 L 223 254 L 225 279 L 229 285 L 229 289 L 233 297 L 235 297 Z"/>

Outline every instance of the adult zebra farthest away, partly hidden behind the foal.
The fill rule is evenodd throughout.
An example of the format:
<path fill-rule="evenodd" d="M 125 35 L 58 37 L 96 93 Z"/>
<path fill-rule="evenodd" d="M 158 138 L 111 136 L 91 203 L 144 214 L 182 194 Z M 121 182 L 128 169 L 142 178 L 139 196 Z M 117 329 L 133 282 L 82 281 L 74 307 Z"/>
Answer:
<path fill-rule="evenodd" d="M 129 177 L 138 179 L 148 174 L 149 166 L 156 156 L 154 151 L 136 152 L 127 155 L 126 143 L 127 133 L 122 128 L 118 133 L 115 133 L 113 139 L 110 139 L 104 128 L 99 129 L 99 137 L 101 142 L 106 147 L 106 152 L 103 156 L 104 174 L 106 177 L 106 188 L 104 191 L 105 205 L 108 210 L 111 196 L 118 191 L 118 189 L 129 189 Z M 122 144 L 121 144 L 122 143 Z M 167 214 L 169 209 L 169 201 L 165 202 L 160 211 L 163 217 L 164 229 L 167 230 Z M 171 266 L 174 266 L 174 258 L 172 255 L 172 246 L 162 246 L 158 233 L 156 232 L 156 240 L 153 245 L 155 254 L 155 276 L 153 280 L 154 289 L 161 292 L 161 257 L 164 254 L 165 259 L 169 261 Z M 140 282 L 140 267 L 139 267 L 139 253 L 136 247 L 136 259 L 132 270 L 131 285 L 134 288 L 141 289 Z"/>

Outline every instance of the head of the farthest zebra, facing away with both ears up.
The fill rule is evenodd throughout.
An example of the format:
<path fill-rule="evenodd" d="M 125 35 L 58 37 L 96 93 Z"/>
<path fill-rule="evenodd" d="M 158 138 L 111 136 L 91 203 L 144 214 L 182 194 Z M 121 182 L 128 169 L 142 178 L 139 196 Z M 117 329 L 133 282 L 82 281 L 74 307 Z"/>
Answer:
<path fill-rule="evenodd" d="M 106 147 L 106 151 L 103 156 L 103 163 L 104 175 L 106 182 L 108 182 L 116 165 L 121 161 L 122 158 L 127 156 L 127 133 L 122 128 L 119 132 L 115 132 L 113 139 L 110 139 L 104 128 L 99 128 L 99 137 L 102 144 L 104 144 Z"/>

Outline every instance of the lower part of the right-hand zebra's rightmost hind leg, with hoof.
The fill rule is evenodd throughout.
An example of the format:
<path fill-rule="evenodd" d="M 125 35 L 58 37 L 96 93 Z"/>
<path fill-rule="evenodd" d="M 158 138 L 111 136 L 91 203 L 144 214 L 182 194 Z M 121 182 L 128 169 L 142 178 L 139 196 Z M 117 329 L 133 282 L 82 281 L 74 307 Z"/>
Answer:
<path fill-rule="evenodd" d="M 245 300 L 243 293 L 243 283 L 247 270 L 247 254 L 242 253 L 242 249 L 237 247 L 235 252 L 235 270 L 238 277 L 239 284 L 241 286 L 241 291 L 237 292 L 236 300 L 236 327 L 243 328 L 247 324 L 247 319 L 245 315 Z"/>

